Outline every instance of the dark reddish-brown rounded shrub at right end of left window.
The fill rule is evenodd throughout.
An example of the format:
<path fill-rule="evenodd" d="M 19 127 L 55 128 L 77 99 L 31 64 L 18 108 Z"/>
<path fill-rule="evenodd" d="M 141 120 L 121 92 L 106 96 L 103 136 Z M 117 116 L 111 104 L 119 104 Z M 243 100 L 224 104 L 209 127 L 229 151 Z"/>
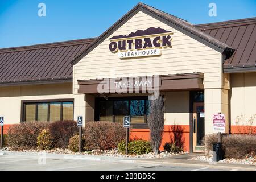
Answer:
<path fill-rule="evenodd" d="M 79 131 L 79 127 L 72 120 L 54 121 L 50 123 L 49 131 L 56 148 L 67 148 L 69 139 Z"/>

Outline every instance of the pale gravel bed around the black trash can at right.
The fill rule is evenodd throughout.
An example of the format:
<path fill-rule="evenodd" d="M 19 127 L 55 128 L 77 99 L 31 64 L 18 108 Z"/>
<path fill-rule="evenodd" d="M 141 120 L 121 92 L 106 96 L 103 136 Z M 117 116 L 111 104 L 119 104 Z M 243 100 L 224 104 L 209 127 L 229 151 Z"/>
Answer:
<path fill-rule="evenodd" d="M 213 156 L 204 156 L 203 155 L 203 156 L 193 157 L 189 160 L 201 160 L 201 161 L 213 162 Z M 249 158 L 245 158 L 245 159 L 233 159 L 233 158 L 223 159 L 223 160 L 220 160 L 219 162 L 256 165 L 256 156 L 250 156 Z"/>

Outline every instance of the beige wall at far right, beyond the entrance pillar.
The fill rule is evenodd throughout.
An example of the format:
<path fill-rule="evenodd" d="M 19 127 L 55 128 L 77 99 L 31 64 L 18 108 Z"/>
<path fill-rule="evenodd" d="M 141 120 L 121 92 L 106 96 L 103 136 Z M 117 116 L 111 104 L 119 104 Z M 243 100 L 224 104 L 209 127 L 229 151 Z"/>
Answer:
<path fill-rule="evenodd" d="M 256 114 L 256 73 L 230 74 L 229 95 L 231 125 L 249 125 L 250 117 Z M 236 124 L 237 117 L 242 121 Z"/>

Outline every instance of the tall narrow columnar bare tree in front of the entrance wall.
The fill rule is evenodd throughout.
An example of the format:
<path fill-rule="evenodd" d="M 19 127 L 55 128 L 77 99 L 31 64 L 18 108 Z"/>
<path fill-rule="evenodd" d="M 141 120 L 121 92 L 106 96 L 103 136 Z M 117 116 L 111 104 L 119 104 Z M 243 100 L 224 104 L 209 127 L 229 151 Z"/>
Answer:
<path fill-rule="evenodd" d="M 150 127 L 150 142 L 154 154 L 158 154 L 164 130 L 164 97 L 160 94 L 156 100 L 150 101 L 151 112 L 147 120 Z"/>

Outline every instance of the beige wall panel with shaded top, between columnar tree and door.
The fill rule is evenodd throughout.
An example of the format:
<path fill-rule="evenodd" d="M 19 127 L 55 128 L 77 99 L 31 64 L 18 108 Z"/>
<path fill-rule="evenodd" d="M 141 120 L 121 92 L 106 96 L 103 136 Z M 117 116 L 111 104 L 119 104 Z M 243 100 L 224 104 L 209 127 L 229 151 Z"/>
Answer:
<path fill-rule="evenodd" d="M 165 125 L 189 125 L 189 92 L 165 92 Z"/>

